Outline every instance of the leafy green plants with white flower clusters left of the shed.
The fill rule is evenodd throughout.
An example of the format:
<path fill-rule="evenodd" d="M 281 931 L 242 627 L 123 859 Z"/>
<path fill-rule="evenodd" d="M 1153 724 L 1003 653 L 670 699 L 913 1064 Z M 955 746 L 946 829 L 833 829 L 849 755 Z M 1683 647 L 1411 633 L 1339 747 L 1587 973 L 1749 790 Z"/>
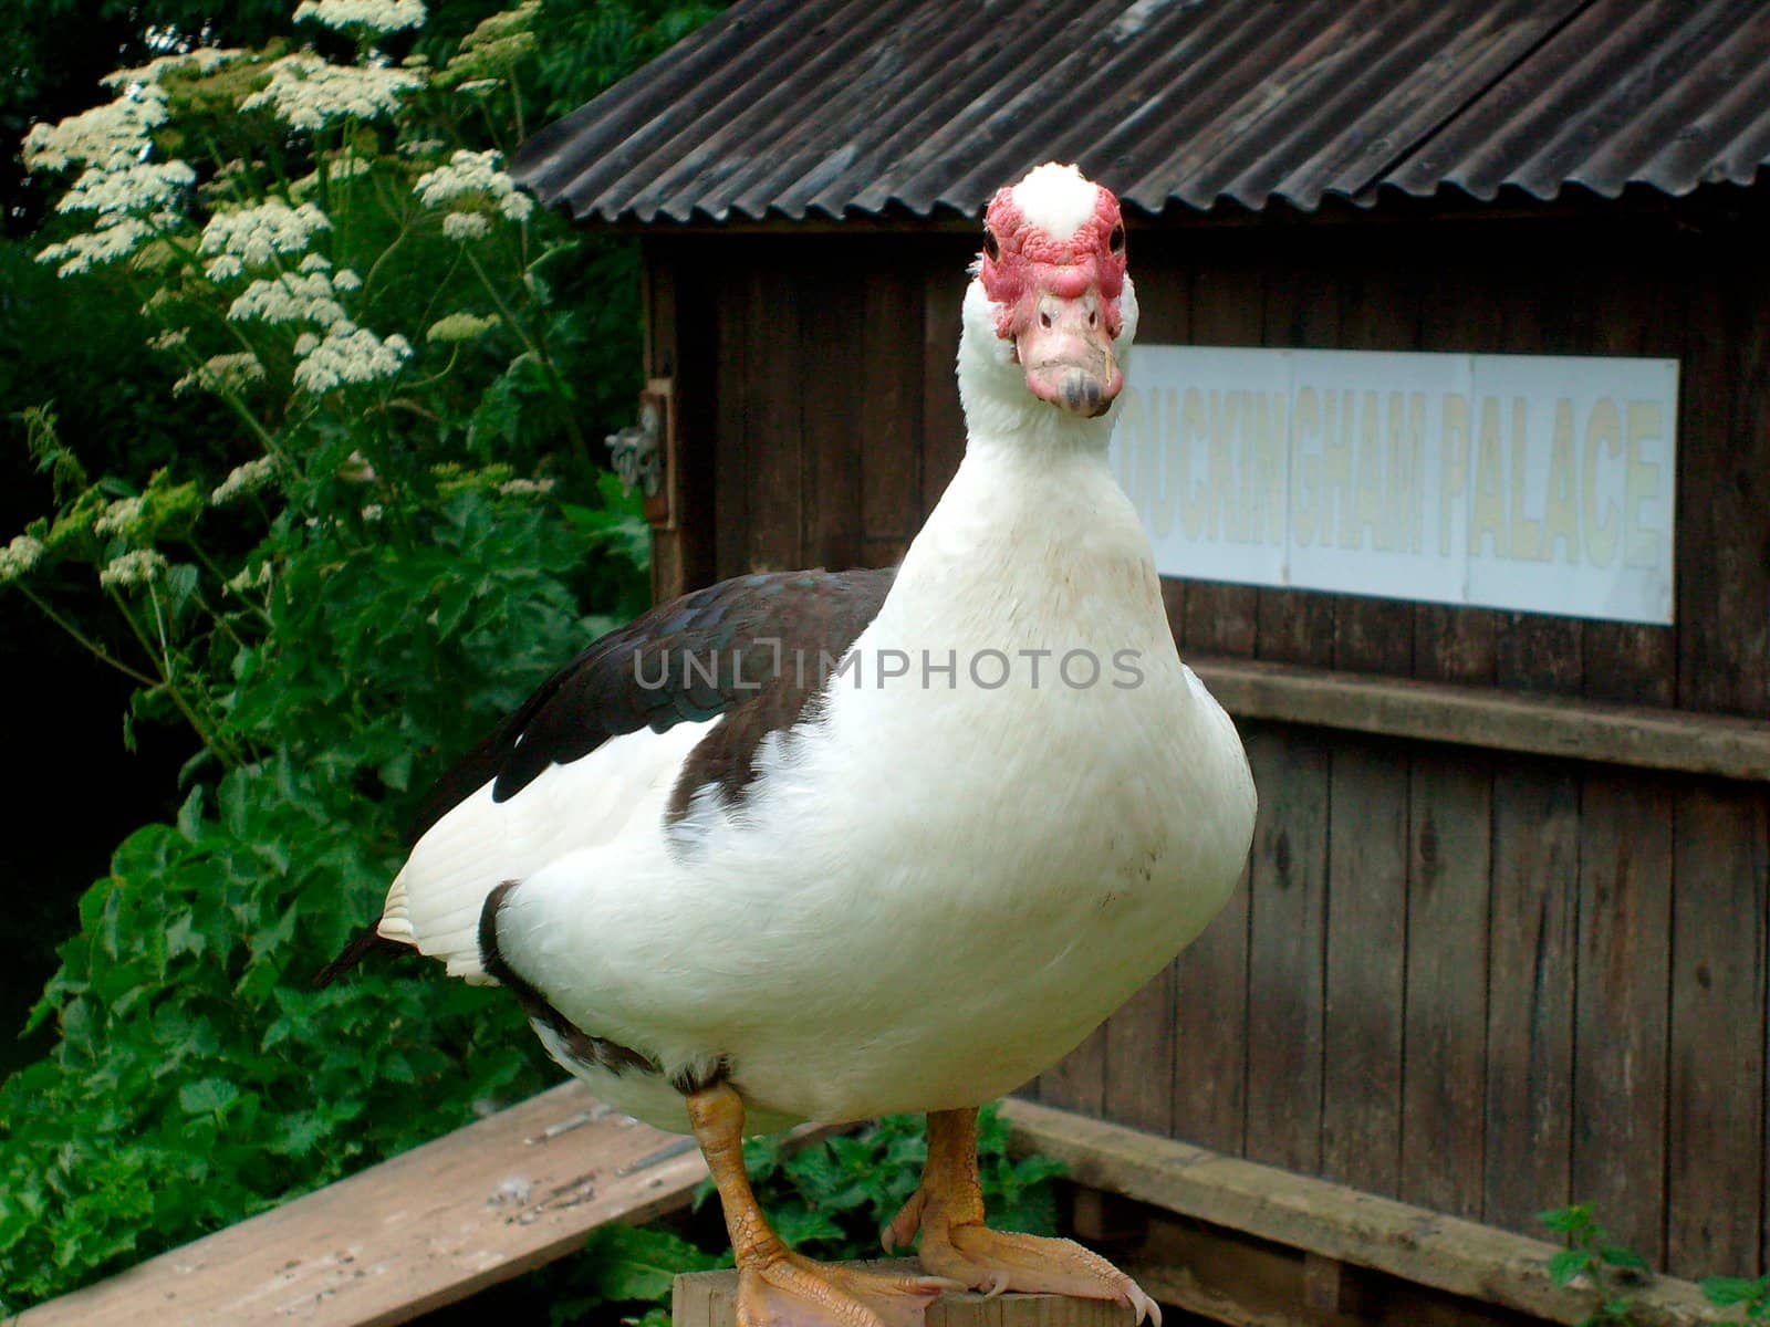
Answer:
<path fill-rule="evenodd" d="M 0 1313 L 550 1078 L 513 1001 L 404 970 L 308 987 L 423 780 L 643 603 L 644 527 L 584 441 L 609 398 L 577 387 L 637 379 L 637 310 L 575 295 L 620 258 L 503 170 L 536 12 L 435 64 L 396 57 L 418 0 L 306 0 L 312 46 L 165 35 L 25 142 L 67 182 L 41 257 L 126 283 L 181 405 L 216 412 L 150 474 L 88 474 L 27 412 L 55 510 L 0 589 L 196 752 L 175 823 L 80 902 L 32 1014 L 53 1053 L 0 1086 Z"/>

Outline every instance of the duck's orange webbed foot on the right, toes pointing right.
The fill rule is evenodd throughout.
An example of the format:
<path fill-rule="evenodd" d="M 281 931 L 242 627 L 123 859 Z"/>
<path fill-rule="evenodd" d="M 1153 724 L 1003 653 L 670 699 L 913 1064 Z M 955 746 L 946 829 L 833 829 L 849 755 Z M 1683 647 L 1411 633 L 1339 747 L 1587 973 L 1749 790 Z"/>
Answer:
<path fill-rule="evenodd" d="M 924 1270 L 989 1295 L 1020 1290 L 1106 1299 L 1131 1309 L 1136 1315 L 1133 1322 L 1149 1318 L 1154 1327 L 1161 1327 L 1156 1300 L 1129 1276 L 1074 1240 L 1016 1235 L 984 1224 L 940 1226 L 924 1221 L 920 1258 Z"/>

